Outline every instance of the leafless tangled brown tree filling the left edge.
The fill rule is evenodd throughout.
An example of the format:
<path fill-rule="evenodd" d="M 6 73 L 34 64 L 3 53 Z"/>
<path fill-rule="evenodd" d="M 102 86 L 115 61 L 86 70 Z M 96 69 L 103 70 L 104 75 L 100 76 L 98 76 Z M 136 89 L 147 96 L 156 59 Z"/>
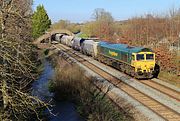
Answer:
<path fill-rule="evenodd" d="M 36 51 L 31 41 L 32 0 L 0 1 L 0 120 L 22 120 L 48 105 L 29 93 Z"/>

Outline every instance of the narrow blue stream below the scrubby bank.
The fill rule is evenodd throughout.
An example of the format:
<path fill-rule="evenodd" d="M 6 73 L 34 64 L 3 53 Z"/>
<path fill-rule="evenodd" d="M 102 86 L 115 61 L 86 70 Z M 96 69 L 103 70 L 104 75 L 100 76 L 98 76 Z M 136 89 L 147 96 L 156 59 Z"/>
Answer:
<path fill-rule="evenodd" d="M 45 60 L 44 62 L 44 71 L 37 81 L 32 85 L 33 91 L 32 94 L 39 97 L 43 101 L 49 101 L 53 99 L 54 94 L 48 90 L 48 82 L 52 79 L 54 74 L 54 69 L 51 64 Z M 49 121 L 82 121 L 80 116 L 75 110 L 75 106 L 71 102 L 53 102 L 53 114 L 56 116 L 50 115 Z M 46 111 L 47 112 L 47 111 Z"/>

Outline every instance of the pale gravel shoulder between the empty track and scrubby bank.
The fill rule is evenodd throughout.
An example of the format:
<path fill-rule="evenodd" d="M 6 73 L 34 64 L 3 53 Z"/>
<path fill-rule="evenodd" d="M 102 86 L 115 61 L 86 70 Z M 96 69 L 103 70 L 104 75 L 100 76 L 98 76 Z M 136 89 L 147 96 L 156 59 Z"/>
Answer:
<path fill-rule="evenodd" d="M 120 107 L 121 109 L 125 110 L 125 112 L 131 114 L 134 118 L 133 120 L 137 120 L 137 121 L 162 120 L 163 121 L 161 117 L 154 114 L 144 105 L 139 103 L 137 100 L 133 99 L 127 93 L 120 90 L 119 88 L 114 86 L 112 83 L 110 83 L 108 80 L 99 76 L 97 73 L 93 72 L 86 66 L 82 65 L 74 58 L 71 58 L 68 54 L 61 53 L 60 56 L 65 58 L 66 61 L 68 61 L 69 63 L 76 63 L 81 68 L 83 68 L 85 72 L 84 74 L 87 77 L 94 77 L 93 84 L 96 85 L 96 87 L 99 88 L 104 94 L 106 94 L 108 98 L 110 98 L 116 104 L 117 107 Z"/>

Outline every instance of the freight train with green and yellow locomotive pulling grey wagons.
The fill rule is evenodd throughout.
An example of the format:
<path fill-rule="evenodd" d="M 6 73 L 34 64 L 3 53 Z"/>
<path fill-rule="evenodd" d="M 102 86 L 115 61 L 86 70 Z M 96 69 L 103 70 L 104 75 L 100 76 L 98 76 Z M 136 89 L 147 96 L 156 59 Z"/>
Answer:
<path fill-rule="evenodd" d="M 114 44 L 100 40 L 84 39 L 63 34 L 54 35 L 54 41 L 67 45 L 99 62 L 112 66 L 132 77 L 153 78 L 155 53 L 144 47 Z"/>

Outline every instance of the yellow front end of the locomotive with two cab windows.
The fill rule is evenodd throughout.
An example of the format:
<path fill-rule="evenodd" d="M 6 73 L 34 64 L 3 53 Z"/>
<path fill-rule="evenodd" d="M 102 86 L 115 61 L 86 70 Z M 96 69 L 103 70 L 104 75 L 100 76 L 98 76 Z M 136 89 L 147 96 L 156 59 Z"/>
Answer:
<path fill-rule="evenodd" d="M 132 53 L 131 65 L 135 69 L 135 77 L 152 78 L 155 67 L 155 53 L 153 52 Z"/>

